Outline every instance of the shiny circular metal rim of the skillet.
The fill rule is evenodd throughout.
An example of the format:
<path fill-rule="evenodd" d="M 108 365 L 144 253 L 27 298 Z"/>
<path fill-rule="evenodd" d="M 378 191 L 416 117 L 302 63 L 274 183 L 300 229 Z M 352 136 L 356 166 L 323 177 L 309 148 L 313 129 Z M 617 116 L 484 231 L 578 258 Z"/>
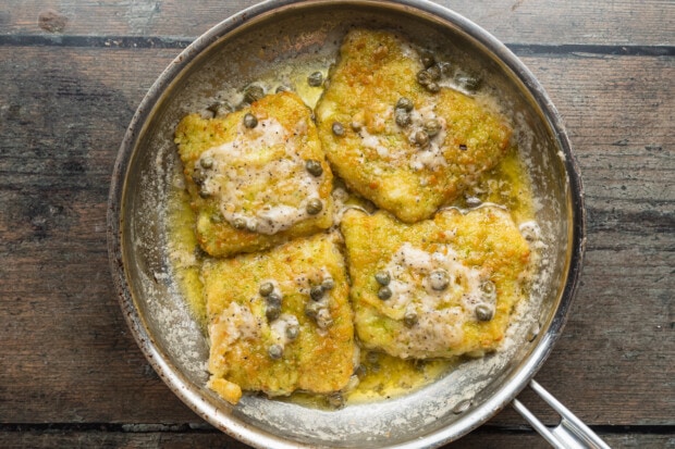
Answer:
<path fill-rule="evenodd" d="M 221 431 L 247 445 L 255 447 L 273 446 L 279 448 L 295 448 L 305 447 L 305 445 L 298 442 L 290 444 L 286 439 L 265 433 L 258 428 L 251 428 L 245 422 L 231 415 L 223 414 L 218 410 L 218 408 L 213 407 L 200 397 L 193 383 L 183 374 L 177 373 L 176 370 L 171 366 L 168 356 L 162 353 L 162 351 L 158 348 L 155 339 L 148 332 L 148 327 L 144 322 L 143 316 L 138 313 L 138 309 L 136 308 L 135 300 L 133 298 L 132 287 L 126 278 L 122 245 L 122 223 L 124 220 L 122 211 L 126 175 L 128 173 L 130 162 L 132 161 L 133 154 L 137 148 L 138 138 L 143 135 L 145 127 L 147 126 L 148 119 L 152 116 L 152 110 L 161 100 L 163 92 L 167 90 L 167 86 L 174 82 L 204 50 L 209 48 L 229 33 L 238 29 L 241 26 L 246 25 L 251 21 L 260 20 L 261 17 L 277 11 L 289 8 L 315 8 L 317 5 L 334 3 L 335 2 L 333 0 L 311 0 L 304 2 L 293 0 L 269 0 L 225 18 L 223 22 L 217 24 L 198 37 L 162 72 L 142 100 L 128 128 L 126 129 L 112 173 L 107 216 L 109 262 L 114 287 L 119 296 L 125 321 L 132 329 L 132 334 L 134 335 L 138 347 L 142 349 L 146 359 L 160 375 L 162 381 L 174 394 L 176 394 L 176 396 L 179 396 L 181 400 L 183 400 L 183 402 Z M 505 45 L 499 41 L 495 37 L 462 15 L 428 0 L 348 0 L 342 1 L 340 4 L 405 9 L 406 11 L 424 13 L 438 17 L 441 21 L 452 23 L 454 26 L 469 34 L 472 39 L 489 49 L 492 54 L 494 54 L 494 57 L 499 59 L 499 61 L 502 62 L 510 71 L 512 71 L 517 79 L 527 87 L 527 90 L 533 97 L 541 115 L 547 120 L 547 125 L 550 127 L 552 135 L 555 136 L 557 148 L 564 153 L 564 164 L 569 189 L 568 197 L 570 198 L 570 203 L 567 204 L 567 208 L 572 216 L 572 225 L 568 229 L 569 255 L 566 278 L 561 279 L 561 282 L 565 282 L 565 287 L 560 294 L 557 301 L 559 305 L 553 313 L 553 319 L 549 327 L 545 329 L 544 335 L 541 337 L 538 345 L 532 349 L 530 354 L 526 358 L 525 362 L 516 369 L 515 373 L 504 382 L 504 384 L 494 395 L 492 395 L 489 400 L 476 407 L 469 413 L 465 414 L 446 427 L 429 433 L 415 439 L 414 441 L 391 446 L 395 448 L 438 447 L 466 435 L 505 408 L 526 387 L 528 382 L 536 375 L 550 356 L 555 341 L 563 332 L 563 327 L 568 315 L 568 310 L 576 294 L 581 273 L 586 247 L 586 210 L 584 207 L 584 188 L 579 175 L 579 169 L 572 151 L 572 145 L 564 129 L 562 117 L 560 116 L 557 110 L 531 72 Z"/>

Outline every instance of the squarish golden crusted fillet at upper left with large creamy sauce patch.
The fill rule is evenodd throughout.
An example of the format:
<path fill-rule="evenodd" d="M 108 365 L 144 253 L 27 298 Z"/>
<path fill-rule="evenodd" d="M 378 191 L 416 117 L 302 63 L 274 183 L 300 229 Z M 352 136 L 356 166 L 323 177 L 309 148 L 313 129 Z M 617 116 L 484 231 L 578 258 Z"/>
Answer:
<path fill-rule="evenodd" d="M 256 127 L 244 125 L 246 114 L 257 117 Z M 263 250 L 332 225 L 332 173 L 311 111 L 295 93 L 267 96 L 224 117 L 187 115 L 176 127 L 175 142 L 197 213 L 197 239 L 207 253 Z M 202 167 L 209 158 L 213 165 Z M 320 164 L 320 176 L 306 173 L 309 160 Z M 312 198 L 322 209 L 305 213 Z"/>

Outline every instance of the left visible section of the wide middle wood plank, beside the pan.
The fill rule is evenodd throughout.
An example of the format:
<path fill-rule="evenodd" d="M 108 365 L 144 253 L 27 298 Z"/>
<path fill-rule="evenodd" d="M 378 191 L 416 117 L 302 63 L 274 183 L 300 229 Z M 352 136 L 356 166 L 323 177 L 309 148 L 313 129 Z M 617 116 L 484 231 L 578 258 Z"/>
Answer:
<path fill-rule="evenodd" d="M 135 348 L 106 246 L 115 153 L 175 52 L 0 50 L 2 422 L 195 419 Z"/>

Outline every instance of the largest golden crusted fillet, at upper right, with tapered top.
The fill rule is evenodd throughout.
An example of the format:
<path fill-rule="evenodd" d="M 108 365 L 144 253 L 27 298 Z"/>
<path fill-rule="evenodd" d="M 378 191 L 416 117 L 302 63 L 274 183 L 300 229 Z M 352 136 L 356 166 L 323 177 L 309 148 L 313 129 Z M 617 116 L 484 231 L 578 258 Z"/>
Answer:
<path fill-rule="evenodd" d="M 347 185 L 414 223 L 456 199 L 505 153 L 511 128 L 474 98 L 441 87 L 435 93 L 416 79 L 424 70 L 417 51 L 389 32 L 347 34 L 330 84 L 316 108 L 319 136 L 332 166 Z M 407 125 L 396 121 L 397 101 L 414 104 Z M 440 132 L 415 141 L 425 123 Z M 344 130 L 335 133 L 334 124 Z"/>

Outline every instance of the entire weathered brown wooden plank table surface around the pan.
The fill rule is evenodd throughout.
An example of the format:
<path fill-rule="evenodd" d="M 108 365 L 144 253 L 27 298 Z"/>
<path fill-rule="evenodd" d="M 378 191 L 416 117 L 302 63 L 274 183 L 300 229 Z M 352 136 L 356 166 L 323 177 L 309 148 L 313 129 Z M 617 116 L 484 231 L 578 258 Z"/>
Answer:
<path fill-rule="evenodd" d="M 439 3 L 523 59 L 581 169 L 581 286 L 537 379 L 613 447 L 675 448 L 675 2 Z M 112 287 L 106 211 L 146 90 L 250 4 L 0 0 L 1 448 L 246 448 L 184 406 L 137 348 Z M 511 409 L 451 446 L 547 447 Z"/>

